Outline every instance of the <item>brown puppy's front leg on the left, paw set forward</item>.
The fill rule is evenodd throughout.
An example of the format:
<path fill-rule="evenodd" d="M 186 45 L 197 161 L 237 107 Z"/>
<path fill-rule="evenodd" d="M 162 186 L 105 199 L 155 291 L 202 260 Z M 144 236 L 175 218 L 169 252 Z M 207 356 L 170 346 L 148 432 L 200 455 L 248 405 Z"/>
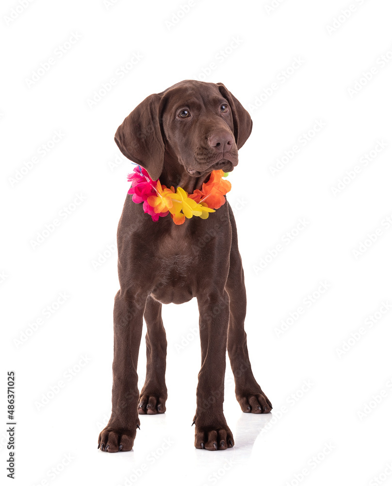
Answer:
<path fill-rule="evenodd" d="M 124 295 L 114 299 L 114 359 L 112 416 L 99 434 L 102 451 L 131 451 L 139 426 L 137 360 L 146 298 Z"/>

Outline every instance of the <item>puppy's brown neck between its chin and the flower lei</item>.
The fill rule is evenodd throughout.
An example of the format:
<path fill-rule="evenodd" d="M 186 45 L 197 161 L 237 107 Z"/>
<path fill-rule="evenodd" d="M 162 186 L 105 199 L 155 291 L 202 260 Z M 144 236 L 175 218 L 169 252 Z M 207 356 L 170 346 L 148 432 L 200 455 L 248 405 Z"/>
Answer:
<path fill-rule="evenodd" d="M 196 189 L 202 188 L 203 182 L 206 182 L 210 174 L 205 174 L 200 177 L 194 177 L 188 174 L 185 167 L 180 163 L 177 157 L 165 153 L 163 171 L 159 177 L 161 184 L 166 187 L 173 186 L 174 189 L 181 187 L 188 194 L 192 194 Z"/>

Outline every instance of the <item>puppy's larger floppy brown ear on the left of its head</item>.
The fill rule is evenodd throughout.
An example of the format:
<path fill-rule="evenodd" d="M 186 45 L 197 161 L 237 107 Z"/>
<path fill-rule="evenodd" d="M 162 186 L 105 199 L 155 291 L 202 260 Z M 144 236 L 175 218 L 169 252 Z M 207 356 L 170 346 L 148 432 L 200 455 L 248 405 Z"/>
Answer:
<path fill-rule="evenodd" d="M 162 173 L 164 141 L 161 131 L 161 96 L 151 94 L 117 128 L 114 140 L 121 152 L 144 167 L 152 180 Z"/>

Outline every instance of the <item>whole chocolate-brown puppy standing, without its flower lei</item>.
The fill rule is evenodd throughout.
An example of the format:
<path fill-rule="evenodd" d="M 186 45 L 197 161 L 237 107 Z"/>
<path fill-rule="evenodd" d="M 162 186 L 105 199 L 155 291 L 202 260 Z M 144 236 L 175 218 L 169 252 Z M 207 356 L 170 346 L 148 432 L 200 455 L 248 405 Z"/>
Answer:
<path fill-rule="evenodd" d="M 232 171 L 252 130 L 249 113 L 221 84 L 182 81 L 148 96 L 118 127 L 121 152 L 153 180 L 188 193 L 211 172 Z M 268 413 L 271 402 L 253 377 L 246 346 L 244 273 L 233 212 L 226 202 L 203 220 L 177 226 L 170 216 L 153 222 L 141 204 L 125 201 L 118 225 L 118 278 L 114 301 L 112 416 L 99 434 L 102 451 L 130 451 L 139 414 L 166 410 L 166 336 L 162 304 L 193 297 L 199 308 L 201 369 L 196 390 L 195 447 L 233 447 L 223 415 L 226 349 L 243 412 Z M 147 375 L 139 397 L 137 360 L 143 316 Z"/>

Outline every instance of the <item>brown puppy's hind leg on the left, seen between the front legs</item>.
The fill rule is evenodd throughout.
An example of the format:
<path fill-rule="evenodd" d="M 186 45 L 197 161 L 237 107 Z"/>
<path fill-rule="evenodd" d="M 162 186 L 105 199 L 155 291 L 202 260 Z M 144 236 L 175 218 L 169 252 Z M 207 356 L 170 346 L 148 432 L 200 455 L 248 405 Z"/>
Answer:
<path fill-rule="evenodd" d="M 147 324 L 147 373 L 146 382 L 140 392 L 139 414 L 163 414 L 166 411 L 167 388 L 166 332 L 162 322 L 162 304 L 147 297 L 144 318 Z"/>

